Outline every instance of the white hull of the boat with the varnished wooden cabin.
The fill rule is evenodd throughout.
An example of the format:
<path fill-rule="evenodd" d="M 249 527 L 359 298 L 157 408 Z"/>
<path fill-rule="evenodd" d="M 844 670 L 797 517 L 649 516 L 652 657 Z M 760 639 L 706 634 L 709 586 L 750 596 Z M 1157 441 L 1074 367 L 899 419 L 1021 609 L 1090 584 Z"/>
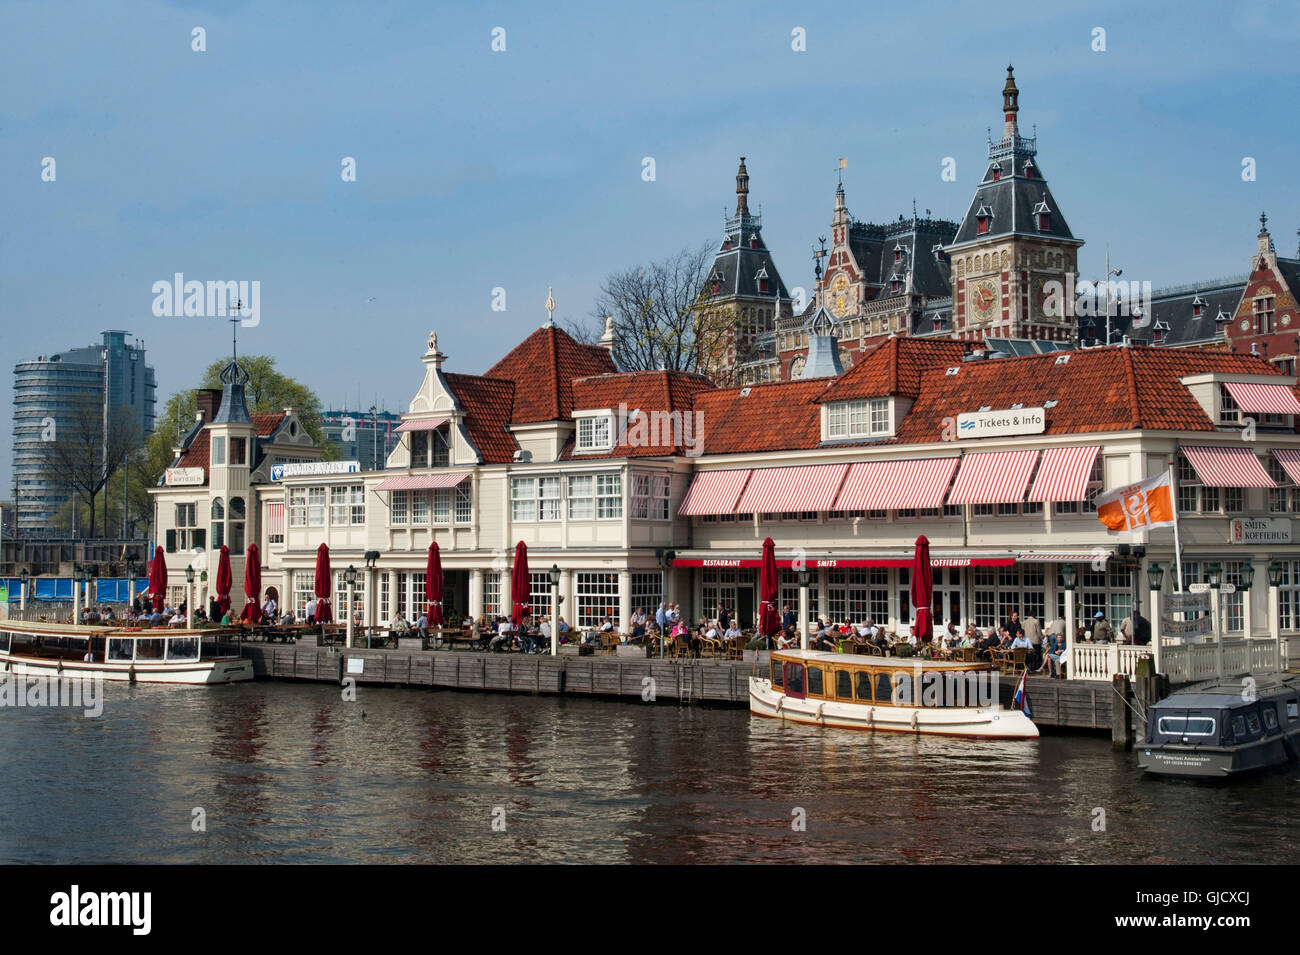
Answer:
<path fill-rule="evenodd" d="M 749 712 L 807 726 L 876 733 L 916 733 L 978 739 L 1037 739 L 1039 728 L 1019 709 L 997 707 L 872 707 L 788 696 L 770 680 L 749 678 Z"/>

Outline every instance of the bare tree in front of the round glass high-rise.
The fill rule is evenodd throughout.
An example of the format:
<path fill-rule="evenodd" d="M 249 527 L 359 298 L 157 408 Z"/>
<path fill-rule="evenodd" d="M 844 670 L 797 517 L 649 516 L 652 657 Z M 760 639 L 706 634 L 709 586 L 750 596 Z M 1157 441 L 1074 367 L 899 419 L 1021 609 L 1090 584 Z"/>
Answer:
<path fill-rule="evenodd" d="M 103 405 L 84 399 L 72 407 L 53 439 L 40 444 L 42 476 L 52 486 L 86 503 L 91 538 L 95 537 L 96 495 L 142 440 L 139 425 L 125 408 L 112 409 L 105 422 Z"/>

